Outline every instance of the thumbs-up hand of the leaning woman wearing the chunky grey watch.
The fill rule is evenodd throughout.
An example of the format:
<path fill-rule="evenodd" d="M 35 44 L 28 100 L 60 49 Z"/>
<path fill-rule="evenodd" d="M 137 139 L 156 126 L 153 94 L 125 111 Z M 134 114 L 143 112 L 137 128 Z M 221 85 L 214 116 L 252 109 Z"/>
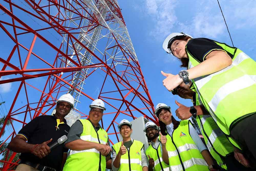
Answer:
<path fill-rule="evenodd" d="M 163 80 L 163 84 L 168 91 L 172 91 L 183 82 L 183 79 L 179 78 L 178 75 L 166 74 L 163 71 L 161 71 L 161 74 L 166 77 Z"/>

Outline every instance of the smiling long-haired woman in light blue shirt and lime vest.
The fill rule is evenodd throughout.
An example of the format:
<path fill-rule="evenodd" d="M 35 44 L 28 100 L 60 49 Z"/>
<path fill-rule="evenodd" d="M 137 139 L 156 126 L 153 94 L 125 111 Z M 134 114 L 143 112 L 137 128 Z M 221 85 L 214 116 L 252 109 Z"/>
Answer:
<path fill-rule="evenodd" d="M 189 120 L 177 121 L 170 107 L 164 103 L 156 105 L 161 132 L 163 161 L 170 170 L 194 171 L 214 169 L 212 158 Z M 209 168 L 208 168 L 209 167 Z"/>

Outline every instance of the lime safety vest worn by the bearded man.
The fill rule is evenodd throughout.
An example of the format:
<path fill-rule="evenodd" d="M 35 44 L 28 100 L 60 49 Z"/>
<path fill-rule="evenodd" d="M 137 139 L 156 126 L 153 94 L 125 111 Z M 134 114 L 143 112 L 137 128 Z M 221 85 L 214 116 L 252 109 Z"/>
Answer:
<path fill-rule="evenodd" d="M 162 158 L 162 153 L 161 153 L 161 142 L 159 142 L 157 149 L 155 149 L 152 144 L 148 146 L 146 150 L 146 156 L 148 158 L 148 155 L 154 159 L 155 166 L 153 168 L 154 171 L 169 171 L 169 165 L 167 165 Z M 149 158 L 148 158 L 149 160 Z"/>

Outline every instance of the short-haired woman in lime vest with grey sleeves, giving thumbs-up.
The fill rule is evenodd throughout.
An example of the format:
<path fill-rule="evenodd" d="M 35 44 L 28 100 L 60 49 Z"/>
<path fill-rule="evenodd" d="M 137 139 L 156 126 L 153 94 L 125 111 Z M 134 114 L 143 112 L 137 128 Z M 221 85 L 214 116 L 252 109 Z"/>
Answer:
<path fill-rule="evenodd" d="M 117 171 L 147 171 L 147 157 L 144 153 L 144 144 L 131 139 L 132 124 L 126 120 L 121 120 L 118 125 L 123 141 L 112 146 L 112 170 Z"/>

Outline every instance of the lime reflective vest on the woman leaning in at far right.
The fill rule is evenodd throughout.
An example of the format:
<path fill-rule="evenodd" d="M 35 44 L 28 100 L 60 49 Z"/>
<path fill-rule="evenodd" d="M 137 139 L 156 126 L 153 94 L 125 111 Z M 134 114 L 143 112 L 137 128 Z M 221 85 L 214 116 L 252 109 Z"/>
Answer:
<path fill-rule="evenodd" d="M 233 55 L 232 64 L 192 81 L 202 104 L 220 129 L 229 135 L 238 120 L 255 114 L 255 97 L 251 92 L 256 91 L 256 62 L 236 47 L 216 41 L 215 43 Z M 188 68 L 200 64 L 187 48 L 186 51 L 189 57 Z"/>

